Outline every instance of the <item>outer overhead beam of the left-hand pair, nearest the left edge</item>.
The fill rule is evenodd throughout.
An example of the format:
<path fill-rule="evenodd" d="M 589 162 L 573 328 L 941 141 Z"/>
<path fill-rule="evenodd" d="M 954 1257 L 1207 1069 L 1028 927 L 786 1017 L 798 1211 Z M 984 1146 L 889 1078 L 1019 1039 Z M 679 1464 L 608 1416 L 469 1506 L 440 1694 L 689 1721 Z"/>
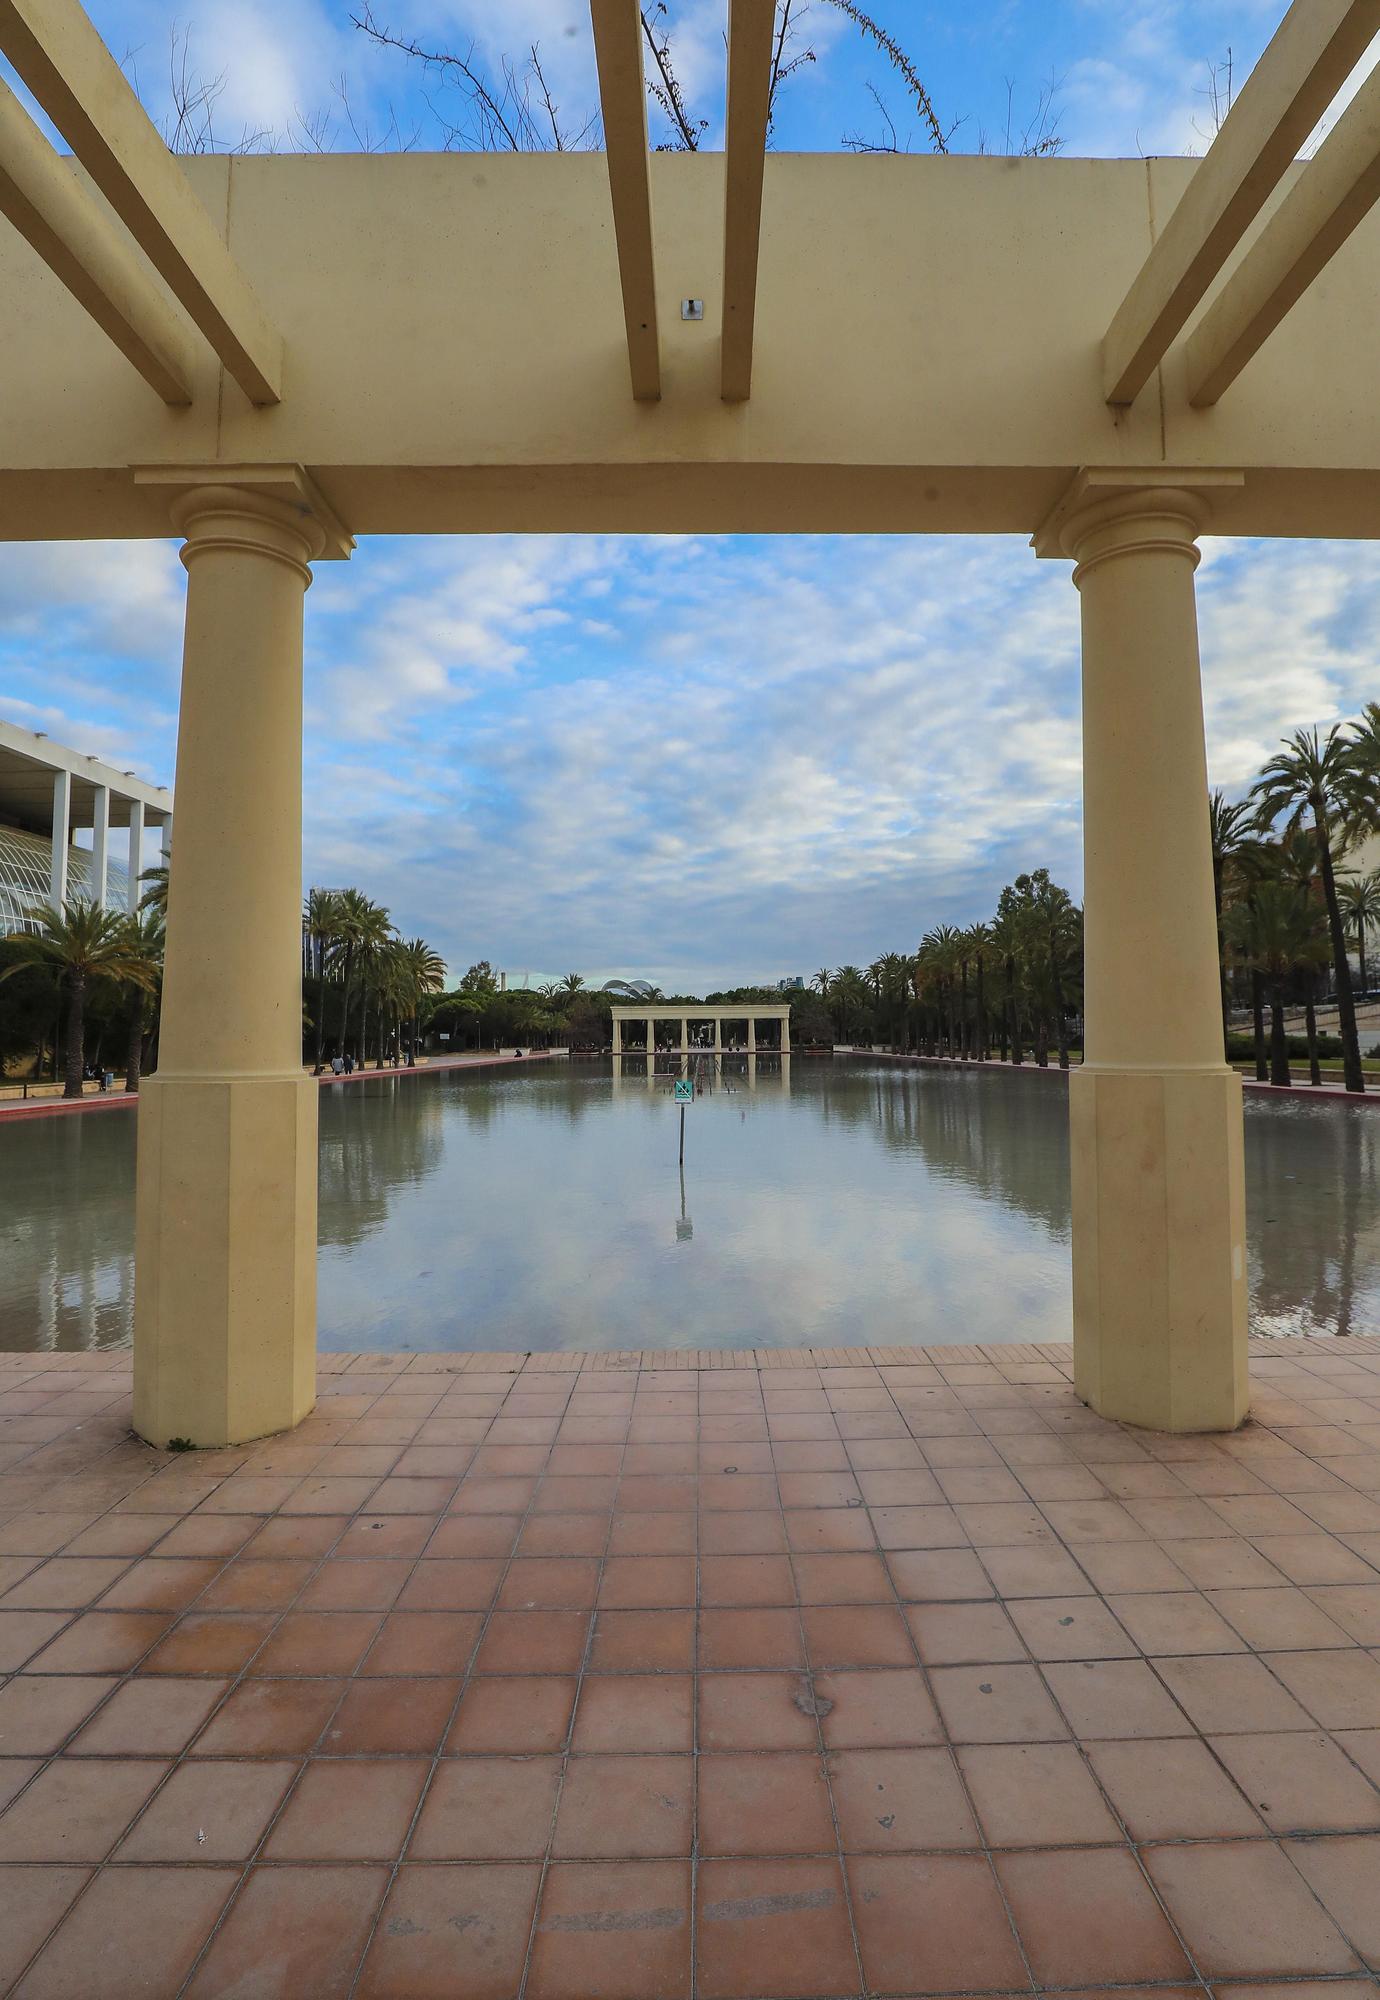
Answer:
<path fill-rule="evenodd" d="M 0 80 L 0 214 L 168 404 L 190 404 L 186 328 L 76 168 Z"/>

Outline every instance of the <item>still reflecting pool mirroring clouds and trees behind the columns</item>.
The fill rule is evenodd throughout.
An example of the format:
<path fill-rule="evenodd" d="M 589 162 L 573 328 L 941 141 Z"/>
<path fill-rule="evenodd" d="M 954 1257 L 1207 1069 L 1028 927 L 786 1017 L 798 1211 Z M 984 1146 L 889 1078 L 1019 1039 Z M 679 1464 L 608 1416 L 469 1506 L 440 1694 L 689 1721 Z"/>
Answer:
<path fill-rule="evenodd" d="M 1066 1340 L 1052 1074 L 644 1060 L 322 1090 L 324 1348 Z M 1254 1332 L 1380 1330 L 1380 1108 L 1246 1102 Z M 0 1122 L 0 1348 L 130 1338 L 134 1114 Z"/>

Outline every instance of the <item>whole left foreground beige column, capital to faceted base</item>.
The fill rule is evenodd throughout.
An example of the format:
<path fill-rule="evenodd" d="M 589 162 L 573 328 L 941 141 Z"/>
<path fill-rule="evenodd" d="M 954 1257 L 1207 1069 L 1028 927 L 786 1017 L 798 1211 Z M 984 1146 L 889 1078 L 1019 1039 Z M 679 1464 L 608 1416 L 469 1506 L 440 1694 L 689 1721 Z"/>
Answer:
<path fill-rule="evenodd" d="M 134 1428 L 286 1430 L 316 1396 L 316 1100 L 302 1072 L 304 508 L 202 486 L 186 536 L 178 866 L 138 1110 Z"/>

